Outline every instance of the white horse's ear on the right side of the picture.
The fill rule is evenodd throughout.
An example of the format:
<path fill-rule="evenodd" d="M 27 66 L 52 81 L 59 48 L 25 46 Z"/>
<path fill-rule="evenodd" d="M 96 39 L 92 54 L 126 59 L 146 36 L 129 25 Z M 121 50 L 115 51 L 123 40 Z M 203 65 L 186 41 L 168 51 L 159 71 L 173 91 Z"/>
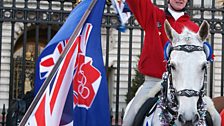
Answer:
<path fill-rule="evenodd" d="M 198 35 L 202 41 L 204 41 L 209 34 L 209 24 L 206 20 L 204 20 L 199 28 Z"/>

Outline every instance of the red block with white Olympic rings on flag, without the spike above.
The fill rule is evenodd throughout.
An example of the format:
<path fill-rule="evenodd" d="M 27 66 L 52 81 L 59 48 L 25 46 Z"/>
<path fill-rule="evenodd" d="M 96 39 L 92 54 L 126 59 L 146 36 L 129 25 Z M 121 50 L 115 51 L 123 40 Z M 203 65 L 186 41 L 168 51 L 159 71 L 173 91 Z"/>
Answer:
<path fill-rule="evenodd" d="M 74 77 L 74 104 L 89 108 L 98 90 L 100 72 L 92 66 L 92 59 L 80 54 Z M 95 85 L 94 85 L 95 84 Z M 95 87 L 95 88 L 94 88 Z"/>

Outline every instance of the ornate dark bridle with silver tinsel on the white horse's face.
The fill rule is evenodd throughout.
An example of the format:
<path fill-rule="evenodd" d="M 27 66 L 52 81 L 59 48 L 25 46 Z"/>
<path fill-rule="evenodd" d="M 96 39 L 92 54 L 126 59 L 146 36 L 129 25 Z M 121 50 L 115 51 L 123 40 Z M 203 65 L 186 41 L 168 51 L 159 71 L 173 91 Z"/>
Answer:
<path fill-rule="evenodd" d="M 185 51 L 185 52 L 194 52 L 194 51 L 204 51 L 203 47 L 195 46 L 195 45 L 178 45 L 171 48 L 171 51 Z M 170 51 L 170 53 L 171 53 Z M 207 69 L 205 69 L 205 73 Z M 169 81 L 169 87 L 168 87 Z M 159 107 L 161 108 L 162 112 L 160 114 L 160 121 L 165 126 L 169 125 L 172 126 L 175 123 L 175 120 L 178 116 L 178 100 L 177 96 L 186 96 L 186 97 L 194 97 L 198 96 L 198 112 L 200 116 L 200 120 L 198 122 L 198 126 L 201 126 L 205 123 L 205 116 L 206 116 L 206 109 L 205 109 L 205 102 L 203 101 L 203 97 L 205 95 L 205 88 L 204 84 L 201 87 L 200 91 L 195 91 L 192 89 L 184 89 L 177 91 L 172 82 L 172 73 L 171 73 L 171 65 L 170 61 L 167 62 L 167 72 L 163 74 L 163 82 L 162 82 L 162 90 L 161 96 L 159 97 Z M 170 91 L 170 98 L 167 97 L 168 95 L 168 88 Z"/>

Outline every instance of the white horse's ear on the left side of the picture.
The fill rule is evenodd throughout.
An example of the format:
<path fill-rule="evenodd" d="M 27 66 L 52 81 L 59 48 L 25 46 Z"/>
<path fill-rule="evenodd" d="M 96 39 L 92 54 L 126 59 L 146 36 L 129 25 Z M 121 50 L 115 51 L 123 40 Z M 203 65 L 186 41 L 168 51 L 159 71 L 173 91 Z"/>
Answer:
<path fill-rule="evenodd" d="M 168 39 L 172 41 L 174 37 L 177 35 L 177 32 L 171 27 L 170 23 L 167 20 L 165 20 L 164 22 L 164 29 Z"/>

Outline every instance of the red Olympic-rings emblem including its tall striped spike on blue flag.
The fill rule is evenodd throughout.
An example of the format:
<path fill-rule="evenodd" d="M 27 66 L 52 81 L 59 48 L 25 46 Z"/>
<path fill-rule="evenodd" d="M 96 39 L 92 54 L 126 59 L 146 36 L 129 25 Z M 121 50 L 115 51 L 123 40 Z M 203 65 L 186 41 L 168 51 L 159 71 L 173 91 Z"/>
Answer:
<path fill-rule="evenodd" d="M 87 23 L 79 43 L 73 80 L 74 105 L 87 109 L 91 107 L 101 82 L 101 73 L 92 65 L 92 58 L 85 55 L 91 29 L 92 25 Z"/>

